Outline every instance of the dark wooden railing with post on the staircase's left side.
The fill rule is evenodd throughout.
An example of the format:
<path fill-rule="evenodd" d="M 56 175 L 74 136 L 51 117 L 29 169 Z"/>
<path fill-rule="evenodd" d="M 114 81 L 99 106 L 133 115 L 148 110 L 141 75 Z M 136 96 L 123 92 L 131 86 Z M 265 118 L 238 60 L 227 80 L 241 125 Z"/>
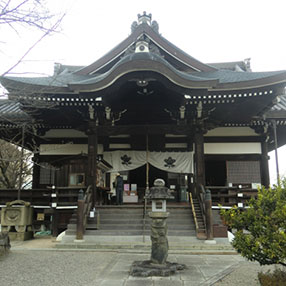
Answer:
<path fill-rule="evenodd" d="M 84 193 L 80 190 L 77 202 L 76 239 L 82 240 L 86 229 L 87 218 L 92 208 L 92 187 L 89 186 Z"/>

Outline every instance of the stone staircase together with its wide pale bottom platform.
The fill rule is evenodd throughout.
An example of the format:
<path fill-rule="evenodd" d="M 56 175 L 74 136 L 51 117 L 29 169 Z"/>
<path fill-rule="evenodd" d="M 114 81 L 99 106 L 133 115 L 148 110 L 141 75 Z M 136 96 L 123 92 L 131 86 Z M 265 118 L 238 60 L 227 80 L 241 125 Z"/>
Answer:
<path fill-rule="evenodd" d="M 233 254 L 235 251 L 228 240 L 218 240 L 219 244 L 206 241 L 206 231 L 200 212 L 199 203 L 193 200 L 198 221 L 196 233 L 191 206 L 188 204 L 169 204 L 167 218 L 169 250 L 172 253 L 192 254 Z M 84 239 L 76 238 L 76 215 L 74 214 L 68 229 L 62 236 L 58 249 L 111 250 L 149 253 L 151 248 L 150 222 L 148 205 L 145 224 L 143 205 L 97 206 L 97 217 L 88 220 Z M 207 242 L 207 243 L 206 243 Z"/>

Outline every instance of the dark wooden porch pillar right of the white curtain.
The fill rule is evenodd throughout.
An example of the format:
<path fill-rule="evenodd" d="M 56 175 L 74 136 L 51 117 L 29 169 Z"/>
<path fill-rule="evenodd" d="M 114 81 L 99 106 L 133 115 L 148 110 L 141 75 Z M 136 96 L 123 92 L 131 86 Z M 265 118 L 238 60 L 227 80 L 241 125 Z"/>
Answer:
<path fill-rule="evenodd" d="M 195 134 L 195 176 L 198 190 L 199 185 L 205 185 L 204 133 L 202 128 L 197 128 Z"/>

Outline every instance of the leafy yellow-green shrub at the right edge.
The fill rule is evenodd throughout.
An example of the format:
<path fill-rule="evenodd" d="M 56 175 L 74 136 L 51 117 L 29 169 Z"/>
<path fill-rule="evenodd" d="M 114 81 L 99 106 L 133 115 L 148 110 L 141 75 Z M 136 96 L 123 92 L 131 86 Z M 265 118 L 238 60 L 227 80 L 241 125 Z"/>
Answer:
<path fill-rule="evenodd" d="M 225 223 L 236 229 L 233 247 L 261 265 L 286 266 L 286 179 L 280 186 L 258 191 L 249 208 L 221 210 Z M 286 283 L 284 284 L 286 285 Z"/>

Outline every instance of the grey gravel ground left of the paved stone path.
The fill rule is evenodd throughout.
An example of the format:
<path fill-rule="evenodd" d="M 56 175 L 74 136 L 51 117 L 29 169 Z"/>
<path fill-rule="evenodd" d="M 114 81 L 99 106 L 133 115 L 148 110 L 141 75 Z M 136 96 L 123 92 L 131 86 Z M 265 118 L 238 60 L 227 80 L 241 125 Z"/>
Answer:
<path fill-rule="evenodd" d="M 92 252 L 11 251 L 0 260 L 0 285 L 95 285 L 113 258 L 112 253 L 96 260 Z"/>

